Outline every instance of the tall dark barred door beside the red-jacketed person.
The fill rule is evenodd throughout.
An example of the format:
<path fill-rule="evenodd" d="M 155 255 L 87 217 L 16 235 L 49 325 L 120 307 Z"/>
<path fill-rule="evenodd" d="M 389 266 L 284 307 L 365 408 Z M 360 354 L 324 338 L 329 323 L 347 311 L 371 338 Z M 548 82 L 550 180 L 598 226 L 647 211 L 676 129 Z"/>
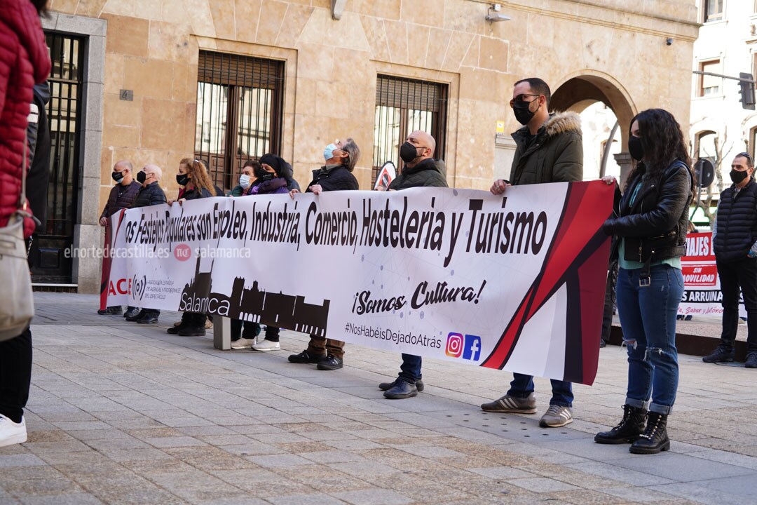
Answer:
<path fill-rule="evenodd" d="M 50 182 L 47 228 L 36 238 L 31 254 L 33 282 L 72 281 L 72 261 L 64 254 L 73 245 L 73 228 L 79 213 L 79 142 L 85 39 L 45 33 L 52 70 L 50 101 Z"/>

